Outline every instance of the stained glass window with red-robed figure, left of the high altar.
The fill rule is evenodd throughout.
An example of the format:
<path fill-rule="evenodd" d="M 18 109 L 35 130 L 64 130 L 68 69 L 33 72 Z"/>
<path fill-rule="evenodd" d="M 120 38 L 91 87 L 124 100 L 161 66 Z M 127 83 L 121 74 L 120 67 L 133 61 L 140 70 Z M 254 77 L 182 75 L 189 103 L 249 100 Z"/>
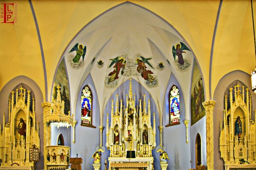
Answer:
<path fill-rule="evenodd" d="M 81 94 L 81 125 L 92 126 L 93 111 L 92 111 L 93 95 L 90 88 L 84 86 Z"/>

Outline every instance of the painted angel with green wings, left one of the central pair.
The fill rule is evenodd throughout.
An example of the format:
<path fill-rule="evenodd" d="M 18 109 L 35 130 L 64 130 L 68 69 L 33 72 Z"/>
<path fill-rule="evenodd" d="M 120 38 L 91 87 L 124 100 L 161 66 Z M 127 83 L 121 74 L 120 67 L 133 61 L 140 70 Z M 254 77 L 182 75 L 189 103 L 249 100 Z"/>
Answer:
<path fill-rule="evenodd" d="M 126 60 L 124 57 L 117 56 L 111 60 L 112 60 L 112 62 L 108 66 L 108 68 L 111 68 L 111 66 L 114 65 L 113 66 L 114 70 L 108 74 L 108 76 L 110 76 L 108 78 L 108 83 L 113 82 L 114 80 L 119 78 L 118 75 L 119 75 L 120 70 L 121 70 L 121 74 L 123 75 L 124 71 L 125 71 L 125 65 L 126 65 Z"/>

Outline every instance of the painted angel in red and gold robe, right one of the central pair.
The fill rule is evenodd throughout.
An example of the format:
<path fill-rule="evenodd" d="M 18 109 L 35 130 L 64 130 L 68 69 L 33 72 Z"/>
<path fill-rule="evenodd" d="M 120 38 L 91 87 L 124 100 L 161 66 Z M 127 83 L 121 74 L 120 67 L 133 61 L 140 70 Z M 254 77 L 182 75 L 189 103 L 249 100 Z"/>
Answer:
<path fill-rule="evenodd" d="M 143 79 L 147 80 L 149 83 L 152 83 L 154 81 L 154 77 L 151 74 L 154 74 L 151 70 L 147 70 L 146 65 L 149 65 L 151 68 L 153 68 L 153 66 L 148 62 L 148 60 L 150 60 L 152 58 L 144 58 L 143 56 L 140 56 L 136 58 L 136 64 L 137 66 L 137 71 L 138 73 L 140 73 L 141 77 L 143 77 Z M 154 68 L 153 68 L 154 69 Z"/>

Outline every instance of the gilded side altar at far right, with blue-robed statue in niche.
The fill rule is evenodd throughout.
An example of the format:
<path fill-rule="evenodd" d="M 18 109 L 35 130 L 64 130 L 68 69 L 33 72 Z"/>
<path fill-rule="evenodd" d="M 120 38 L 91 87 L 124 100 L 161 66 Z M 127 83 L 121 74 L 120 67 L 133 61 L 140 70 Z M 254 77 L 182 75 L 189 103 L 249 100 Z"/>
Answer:
<path fill-rule="evenodd" d="M 223 126 L 219 146 L 224 166 L 250 164 L 256 167 L 256 128 L 252 120 L 252 99 L 248 88 L 239 84 L 229 89 L 229 99 L 224 98 Z"/>

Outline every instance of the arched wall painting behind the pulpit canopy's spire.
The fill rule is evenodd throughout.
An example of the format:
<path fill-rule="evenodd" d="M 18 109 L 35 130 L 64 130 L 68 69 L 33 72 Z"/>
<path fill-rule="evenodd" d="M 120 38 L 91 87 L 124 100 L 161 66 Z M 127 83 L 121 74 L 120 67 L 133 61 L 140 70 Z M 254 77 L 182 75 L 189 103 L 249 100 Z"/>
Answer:
<path fill-rule="evenodd" d="M 69 86 L 67 82 L 67 71 L 65 68 L 64 59 L 61 60 L 57 73 L 55 75 L 55 80 L 53 84 L 53 91 L 52 91 L 52 100 L 56 99 L 57 97 L 57 87 L 58 85 L 61 87 L 61 99 L 65 102 L 64 113 L 68 114 L 70 111 L 70 92 Z"/>

